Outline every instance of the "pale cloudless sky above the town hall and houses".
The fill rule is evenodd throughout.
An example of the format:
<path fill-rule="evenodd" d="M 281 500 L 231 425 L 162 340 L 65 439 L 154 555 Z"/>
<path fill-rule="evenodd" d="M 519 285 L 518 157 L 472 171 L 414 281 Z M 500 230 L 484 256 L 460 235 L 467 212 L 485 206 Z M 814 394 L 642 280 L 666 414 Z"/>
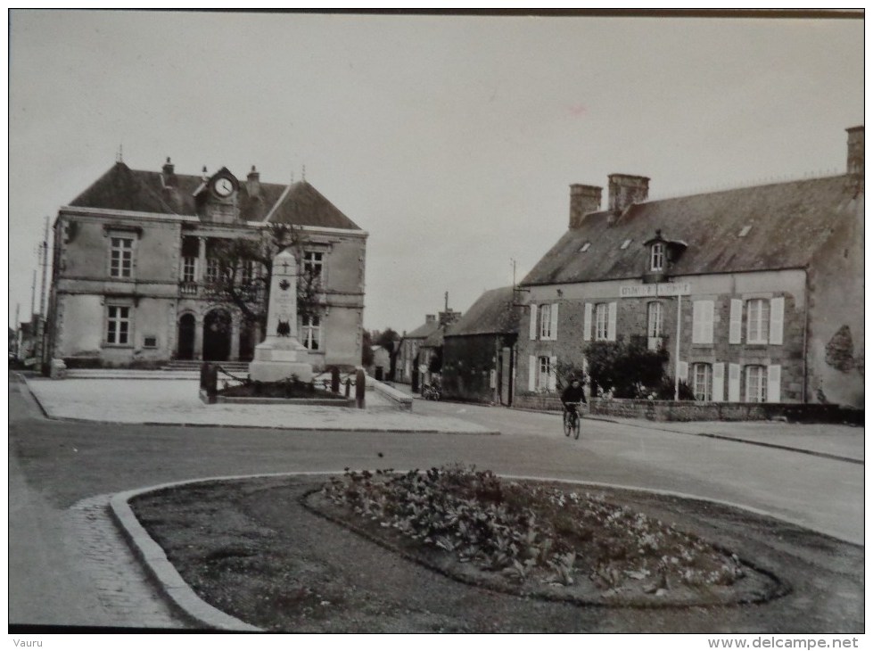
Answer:
<path fill-rule="evenodd" d="M 566 230 L 572 184 L 641 175 L 657 199 L 841 174 L 845 129 L 864 123 L 861 20 L 9 19 L 11 326 L 29 319 L 45 218 L 119 147 L 133 169 L 305 169 L 369 234 L 365 327 L 402 333 L 446 293 L 463 312 L 521 281 Z"/>

